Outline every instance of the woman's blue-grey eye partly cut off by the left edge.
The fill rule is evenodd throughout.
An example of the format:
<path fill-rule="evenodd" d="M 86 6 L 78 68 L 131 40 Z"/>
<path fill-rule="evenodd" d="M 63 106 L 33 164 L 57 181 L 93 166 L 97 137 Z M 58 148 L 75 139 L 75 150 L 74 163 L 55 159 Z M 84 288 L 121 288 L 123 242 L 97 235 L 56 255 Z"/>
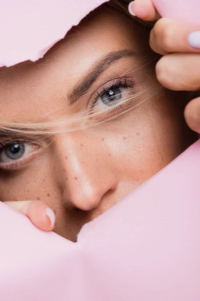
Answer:
<path fill-rule="evenodd" d="M 17 170 L 29 163 L 39 144 L 25 140 L 0 142 L 0 169 Z"/>

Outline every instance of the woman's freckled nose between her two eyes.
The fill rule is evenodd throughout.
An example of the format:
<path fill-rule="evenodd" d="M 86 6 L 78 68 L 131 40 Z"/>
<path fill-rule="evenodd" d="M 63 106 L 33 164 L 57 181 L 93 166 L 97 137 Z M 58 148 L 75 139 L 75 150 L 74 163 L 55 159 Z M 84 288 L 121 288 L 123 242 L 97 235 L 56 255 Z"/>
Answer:
<path fill-rule="evenodd" d="M 94 209 L 116 189 L 118 179 L 101 138 L 76 132 L 56 139 L 56 149 L 66 208 Z"/>

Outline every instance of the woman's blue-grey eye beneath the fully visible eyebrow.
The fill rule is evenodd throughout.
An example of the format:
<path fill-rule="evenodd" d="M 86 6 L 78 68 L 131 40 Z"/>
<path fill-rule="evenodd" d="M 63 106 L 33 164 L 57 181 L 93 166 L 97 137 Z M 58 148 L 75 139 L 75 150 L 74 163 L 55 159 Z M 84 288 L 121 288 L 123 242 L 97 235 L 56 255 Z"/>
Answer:
<path fill-rule="evenodd" d="M 116 78 L 100 87 L 89 104 L 91 113 L 106 113 L 112 115 L 125 110 L 130 104 L 133 94 L 134 81 L 132 79 Z"/>

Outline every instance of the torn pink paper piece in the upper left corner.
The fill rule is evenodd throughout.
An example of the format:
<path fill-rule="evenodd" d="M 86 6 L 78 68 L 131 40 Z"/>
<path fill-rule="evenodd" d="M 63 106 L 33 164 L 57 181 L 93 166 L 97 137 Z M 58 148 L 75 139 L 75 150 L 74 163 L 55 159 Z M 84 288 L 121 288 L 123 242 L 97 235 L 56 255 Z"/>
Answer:
<path fill-rule="evenodd" d="M 36 61 L 108 0 L 0 1 L 0 67 Z"/>

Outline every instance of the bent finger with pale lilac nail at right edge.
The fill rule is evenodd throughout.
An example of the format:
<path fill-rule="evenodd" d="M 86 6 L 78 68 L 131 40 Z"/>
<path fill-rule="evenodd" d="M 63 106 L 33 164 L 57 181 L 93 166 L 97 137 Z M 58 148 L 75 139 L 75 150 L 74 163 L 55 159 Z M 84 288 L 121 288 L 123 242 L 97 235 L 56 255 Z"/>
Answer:
<path fill-rule="evenodd" d="M 150 32 L 150 47 L 159 54 L 171 52 L 200 53 L 200 27 L 162 18 Z M 199 48 L 197 42 L 199 39 Z M 195 45 L 195 47 L 193 47 Z"/>

